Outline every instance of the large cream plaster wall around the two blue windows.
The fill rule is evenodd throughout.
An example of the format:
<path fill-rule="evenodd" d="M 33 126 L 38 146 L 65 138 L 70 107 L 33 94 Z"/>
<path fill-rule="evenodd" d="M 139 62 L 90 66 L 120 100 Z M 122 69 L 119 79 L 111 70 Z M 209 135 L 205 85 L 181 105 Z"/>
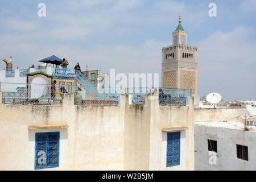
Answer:
<path fill-rule="evenodd" d="M 148 95 L 144 105 L 129 105 L 121 94 L 118 106 L 76 106 L 73 93 L 65 93 L 63 106 L 0 105 L 0 169 L 34 170 L 35 133 L 60 131 L 59 168 L 43 170 L 193 170 L 193 105 L 158 101 Z M 35 124 L 56 127 L 28 129 Z M 57 127 L 63 124 L 68 128 Z M 162 129 L 180 126 L 187 128 L 180 165 L 167 168 Z"/>

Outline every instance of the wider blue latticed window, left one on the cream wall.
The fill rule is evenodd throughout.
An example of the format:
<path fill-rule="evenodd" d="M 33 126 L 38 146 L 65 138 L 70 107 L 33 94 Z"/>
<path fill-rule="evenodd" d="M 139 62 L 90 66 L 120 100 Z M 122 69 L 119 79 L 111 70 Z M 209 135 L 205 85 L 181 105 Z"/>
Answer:
<path fill-rule="evenodd" d="M 35 169 L 59 167 L 59 132 L 36 133 Z"/>

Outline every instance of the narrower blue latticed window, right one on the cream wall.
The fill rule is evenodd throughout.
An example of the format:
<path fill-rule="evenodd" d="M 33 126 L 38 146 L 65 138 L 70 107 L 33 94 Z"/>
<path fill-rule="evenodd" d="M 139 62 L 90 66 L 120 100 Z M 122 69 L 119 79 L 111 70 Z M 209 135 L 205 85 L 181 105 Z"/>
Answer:
<path fill-rule="evenodd" d="M 166 167 L 180 165 L 180 131 L 167 133 Z"/>

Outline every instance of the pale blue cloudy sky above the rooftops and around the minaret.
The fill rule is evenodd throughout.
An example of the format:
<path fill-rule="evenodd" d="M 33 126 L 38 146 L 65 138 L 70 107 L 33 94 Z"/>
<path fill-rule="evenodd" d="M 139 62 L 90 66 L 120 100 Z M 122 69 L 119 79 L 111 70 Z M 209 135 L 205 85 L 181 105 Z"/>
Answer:
<path fill-rule="evenodd" d="M 46 17 L 39 17 L 39 3 Z M 217 16 L 208 7 L 216 3 Z M 200 96 L 256 100 L 255 0 L 0 1 L 0 57 L 27 69 L 56 55 L 85 71 L 159 73 L 181 14 L 187 44 L 197 46 Z M 5 63 L 0 62 L 0 69 Z M 159 82 L 161 82 L 159 80 Z"/>

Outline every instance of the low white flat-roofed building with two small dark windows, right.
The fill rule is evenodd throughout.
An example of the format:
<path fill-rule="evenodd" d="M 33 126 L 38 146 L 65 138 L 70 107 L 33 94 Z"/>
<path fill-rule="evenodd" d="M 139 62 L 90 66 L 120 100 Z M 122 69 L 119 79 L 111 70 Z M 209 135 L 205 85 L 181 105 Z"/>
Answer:
<path fill-rule="evenodd" d="M 195 170 L 256 170 L 256 127 L 195 122 Z"/>

